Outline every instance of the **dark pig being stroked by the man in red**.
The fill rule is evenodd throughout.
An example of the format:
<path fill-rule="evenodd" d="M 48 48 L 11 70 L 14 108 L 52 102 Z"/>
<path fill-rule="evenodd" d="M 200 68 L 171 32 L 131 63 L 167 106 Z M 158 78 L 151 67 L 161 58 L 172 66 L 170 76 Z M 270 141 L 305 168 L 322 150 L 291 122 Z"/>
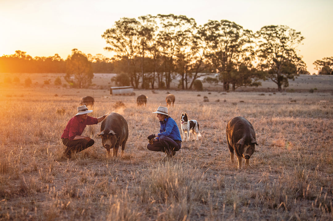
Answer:
<path fill-rule="evenodd" d="M 125 153 L 128 139 L 127 121 L 119 113 L 110 113 L 102 122 L 101 132 L 103 147 L 107 150 L 107 157 L 111 157 L 110 149 L 113 148 L 113 157 L 117 157 L 119 146 L 122 146 L 121 156 Z"/>

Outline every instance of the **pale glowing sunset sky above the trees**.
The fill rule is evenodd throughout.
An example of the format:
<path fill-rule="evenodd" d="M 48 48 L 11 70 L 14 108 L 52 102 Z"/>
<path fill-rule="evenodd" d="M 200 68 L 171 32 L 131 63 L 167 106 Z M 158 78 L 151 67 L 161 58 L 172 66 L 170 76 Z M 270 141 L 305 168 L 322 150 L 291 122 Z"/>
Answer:
<path fill-rule="evenodd" d="M 305 38 L 298 54 L 313 74 L 314 61 L 333 56 L 332 9 L 332 0 L 0 0 L 0 56 L 20 50 L 66 59 L 77 48 L 111 58 L 101 36 L 116 21 L 174 14 L 198 25 L 228 20 L 253 32 L 286 25 Z"/>

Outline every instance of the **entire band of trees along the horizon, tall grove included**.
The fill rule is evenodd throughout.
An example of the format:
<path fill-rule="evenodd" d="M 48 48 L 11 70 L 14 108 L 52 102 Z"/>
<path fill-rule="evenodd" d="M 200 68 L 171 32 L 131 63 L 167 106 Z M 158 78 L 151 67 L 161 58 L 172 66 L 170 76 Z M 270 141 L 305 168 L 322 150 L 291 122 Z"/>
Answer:
<path fill-rule="evenodd" d="M 193 18 L 159 14 L 121 18 L 102 38 L 108 44 L 104 49 L 113 52 L 114 58 L 82 54 L 94 73 L 117 73 L 113 80 L 119 86 L 169 89 L 170 82 L 179 79 L 178 87 L 187 90 L 204 79 L 229 91 L 271 79 L 282 90 L 299 74 L 310 74 L 297 53 L 304 37 L 283 25 L 252 32 L 227 20 L 209 20 L 198 26 Z M 58 54 L 32 58 L 25 53 L 0 57 L 0 72 L 70 74 L 66 61 L 71 56 L 66 60 Z M 331 57 L 315 62 L 322 74 L 333 73 L 332 64 Z"/>

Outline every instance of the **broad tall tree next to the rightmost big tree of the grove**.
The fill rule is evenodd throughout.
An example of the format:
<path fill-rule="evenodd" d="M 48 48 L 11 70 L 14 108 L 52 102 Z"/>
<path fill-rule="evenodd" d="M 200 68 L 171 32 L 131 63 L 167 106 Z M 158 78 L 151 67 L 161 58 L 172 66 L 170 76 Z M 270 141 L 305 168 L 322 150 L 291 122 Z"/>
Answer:
<path fill-rule="evenodd" d="M 228 91 L 232 81 L 231 72 L 252 62 L 253 34 L 227 20 L 209 21 L 199 33 L 208 42 L 207 58 L 218 70 L 223 88 Z"/>

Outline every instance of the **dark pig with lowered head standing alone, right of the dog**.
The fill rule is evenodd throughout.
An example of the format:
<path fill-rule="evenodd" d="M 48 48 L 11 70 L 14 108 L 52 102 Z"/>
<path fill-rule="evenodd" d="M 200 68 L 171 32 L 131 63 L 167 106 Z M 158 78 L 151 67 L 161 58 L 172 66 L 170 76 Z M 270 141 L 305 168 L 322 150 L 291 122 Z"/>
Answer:
<path fill-rule="evenodd" d="M 242 158 L 245 159 L 245 166 L 250 166 L 249 159 L 254 152 L 255 132 L 252 124 L 242 116 L 231 118 L 226 128 L 227 142 L 230 150 L 230 161 L 234 162 L 233 151 L 238 159 L 238 169 L 242 167 Z"/>

